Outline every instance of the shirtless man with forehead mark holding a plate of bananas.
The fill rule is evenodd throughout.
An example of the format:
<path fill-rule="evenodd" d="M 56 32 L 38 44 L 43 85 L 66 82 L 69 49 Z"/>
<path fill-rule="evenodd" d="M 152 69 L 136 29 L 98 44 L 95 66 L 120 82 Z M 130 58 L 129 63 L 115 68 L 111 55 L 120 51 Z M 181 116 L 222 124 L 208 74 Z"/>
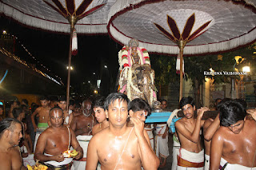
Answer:
<path fill-rule="evenodd" d="M 62 155 L 62 152 L 69 150 L 70 146 L 78 151 L 78 155 L 74 156 L 74 159 L 79 160 L 83 155 L 74 131 L 64 126 L 63 121 L 64 114 L 62 109 L 50 109 L 51 126 L 46 128 L 39 136 L 38 144 L 35 148 L 34 159 L 40 160 L 50 169 L 70 169 L 72 158 L 64 158 Z"/>

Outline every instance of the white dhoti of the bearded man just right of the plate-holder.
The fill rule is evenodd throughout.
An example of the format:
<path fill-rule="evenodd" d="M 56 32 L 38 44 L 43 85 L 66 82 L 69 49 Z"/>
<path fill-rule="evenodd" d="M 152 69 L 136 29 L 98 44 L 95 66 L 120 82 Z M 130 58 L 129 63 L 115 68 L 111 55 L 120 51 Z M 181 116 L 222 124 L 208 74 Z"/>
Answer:
<path fill-rule="evenodd" d="M 78 143 L 82 147 L 83 150 L 83 156 L 80 160 L 73 160 L 74 163 L 74 169 L 86 169 L 86 155 L 87 155 L 87 148 L 88 144 L 90 142 L 90 139 L 92 138 L 92 135 L 90 136 L 77 136 Z"/>

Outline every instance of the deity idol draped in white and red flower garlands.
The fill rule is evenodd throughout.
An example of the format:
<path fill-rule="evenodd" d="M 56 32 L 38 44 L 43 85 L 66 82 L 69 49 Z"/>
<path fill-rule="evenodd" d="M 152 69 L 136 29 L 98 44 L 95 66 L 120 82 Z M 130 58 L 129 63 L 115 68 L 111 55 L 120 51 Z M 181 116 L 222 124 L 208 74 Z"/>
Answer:
<path fill-rule="evenodd" d="M 130 101 L 141 97 L 152 105 L 156 101 L 154 70 L 146 49 L 138 47 L 138 40 L 131 39 L 118 53 L 119 87 L 118 92 L 127 94 Z"/>

